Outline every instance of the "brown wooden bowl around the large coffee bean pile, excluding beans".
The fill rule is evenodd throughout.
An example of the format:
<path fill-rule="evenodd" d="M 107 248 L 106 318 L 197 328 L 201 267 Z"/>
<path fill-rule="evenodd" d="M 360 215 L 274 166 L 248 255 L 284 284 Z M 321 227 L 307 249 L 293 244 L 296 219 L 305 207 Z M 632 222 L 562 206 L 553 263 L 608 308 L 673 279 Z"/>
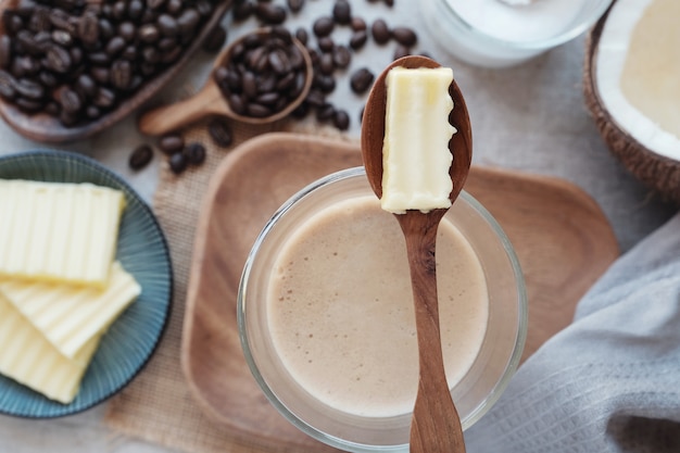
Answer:
<path fill-rule="evenodd" d="M 18 2 L 20 0 L 0 0 L 0 12 L 8 9 L 15 9 Z M 159 92 L 168 81 L 175 78 L 179 70 L 189 62 L 196 52 L 200 51 L 201 45 L 210 32 L 219 24 L 222 17 L 232 3 L 232 0 L 213 2 L 214 10 L 211 17 L 202 26 L 201 32 L 193 38 L 191 45 L 185 49 L 179 60 L 148 80 L 131 97 L 122 101 L 115 110 L 102 115 L 96 121 L 84 123 L 75 127 L 66 127 L 60 123 L 59 118 L 47 113 L 24 113 L 16 105 L 5 101 L 2 97 L 0 97 L 0 116 L 2 116 L 7 124 L 16 133 L 36 141 L 60 143 L 90 137 L 126 117 L 142 103 L 148 101 L 153 95 Z M 0 21 L 0 35 L 5 34 L 3 22 L 4 21 Z"/>

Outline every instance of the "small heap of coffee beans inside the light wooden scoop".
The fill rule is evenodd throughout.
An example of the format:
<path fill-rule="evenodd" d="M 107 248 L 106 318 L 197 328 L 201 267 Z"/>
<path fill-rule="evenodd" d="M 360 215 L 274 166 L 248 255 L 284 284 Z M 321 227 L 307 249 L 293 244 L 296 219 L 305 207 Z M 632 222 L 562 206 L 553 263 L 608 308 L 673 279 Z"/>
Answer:
<path fill-rule="evenodd" d="M 262 118 L 282 111 L 302 95 L 307 68 L 290 33 L 274 26 L 266 33 L 245 35 L 213 77 L 234 112 Z"/>

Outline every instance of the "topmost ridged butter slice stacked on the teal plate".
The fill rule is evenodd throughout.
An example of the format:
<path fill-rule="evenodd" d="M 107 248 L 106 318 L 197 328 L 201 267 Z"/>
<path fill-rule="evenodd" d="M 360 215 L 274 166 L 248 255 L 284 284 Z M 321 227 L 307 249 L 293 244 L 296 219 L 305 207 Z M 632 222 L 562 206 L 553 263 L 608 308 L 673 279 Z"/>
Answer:
<path fill-rule="evenodd" d="M 124 205 L 108 187 L 0 180 L 0 277 L 103 287 Z"/>

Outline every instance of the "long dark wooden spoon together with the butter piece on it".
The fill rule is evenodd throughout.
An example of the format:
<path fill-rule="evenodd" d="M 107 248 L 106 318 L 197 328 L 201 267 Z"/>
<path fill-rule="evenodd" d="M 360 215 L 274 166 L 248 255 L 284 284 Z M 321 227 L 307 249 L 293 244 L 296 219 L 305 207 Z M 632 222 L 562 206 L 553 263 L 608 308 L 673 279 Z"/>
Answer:
<path fill-rule="evenodd" d="M 408 92 L 390 96 L 388 75 L 395 67 L 433 70 L 441 66 L 425 56 L 394 61 L 376 79 L 362 122 L 361 146 L 366 175 L 374 192 L 381 199 L 382 207 L 393 212 L 399 221 L 411 268 L 419 355 L 411 452 L 461 453 L 465 452 L 463 429 L 442 360 L 435 246 L 439 223 L 463 189 L 469 172 L 473 151 L 469 116 L 453 79 L 448 87 L 453 110 L 444 111 L 443 118 L 438 112 L 442 99 L 448 99 L 445 87 L 443 92 L 436 90 L 433 86 L 439 84 L 430 86 L 427 76 L 423 86 L 402 80 L 401 87 L 398 77 L 389 77 L 392 89 L 401 91 L 413 85 L 419 91 L 417 96 Z M 399 105 L 399 99 L 403 101 L 404 96 L 411 99 L 406 112 Z M 435 117 L 430 117 L 432 113 Z M 441 126 L 433 125 L 442 122 Z M 448 140 L 454 129 L 455 134 Z M 433 137 L 433 134 L 442 136 Z M 443 143 L 443 150 L 433 148 L 438 142 Z M 404 143 L 410 149 L 403 149 Z M 395 161 L 391 162 L 392 159 Z M 443 178 L 448 178 L 445 186 L 441 181 L 442 172 Z M 418 180 L 425 184 L 418 185 Z M 395 191 L 392 184 L 395 184 Z M 442 200 L 442 190 L 445 200 Z"/>

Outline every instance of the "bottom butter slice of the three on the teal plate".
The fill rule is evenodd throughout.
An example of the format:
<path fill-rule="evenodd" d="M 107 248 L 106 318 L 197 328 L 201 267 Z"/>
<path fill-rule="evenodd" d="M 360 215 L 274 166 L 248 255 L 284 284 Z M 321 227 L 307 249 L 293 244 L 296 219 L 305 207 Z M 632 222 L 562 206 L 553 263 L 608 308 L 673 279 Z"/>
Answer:
<path fill-rule="evenodd" d="M 0 373 L 51 400 L 68 404 L 80 387 L 101 335 L 66 358 L 0 294 Z"/>

